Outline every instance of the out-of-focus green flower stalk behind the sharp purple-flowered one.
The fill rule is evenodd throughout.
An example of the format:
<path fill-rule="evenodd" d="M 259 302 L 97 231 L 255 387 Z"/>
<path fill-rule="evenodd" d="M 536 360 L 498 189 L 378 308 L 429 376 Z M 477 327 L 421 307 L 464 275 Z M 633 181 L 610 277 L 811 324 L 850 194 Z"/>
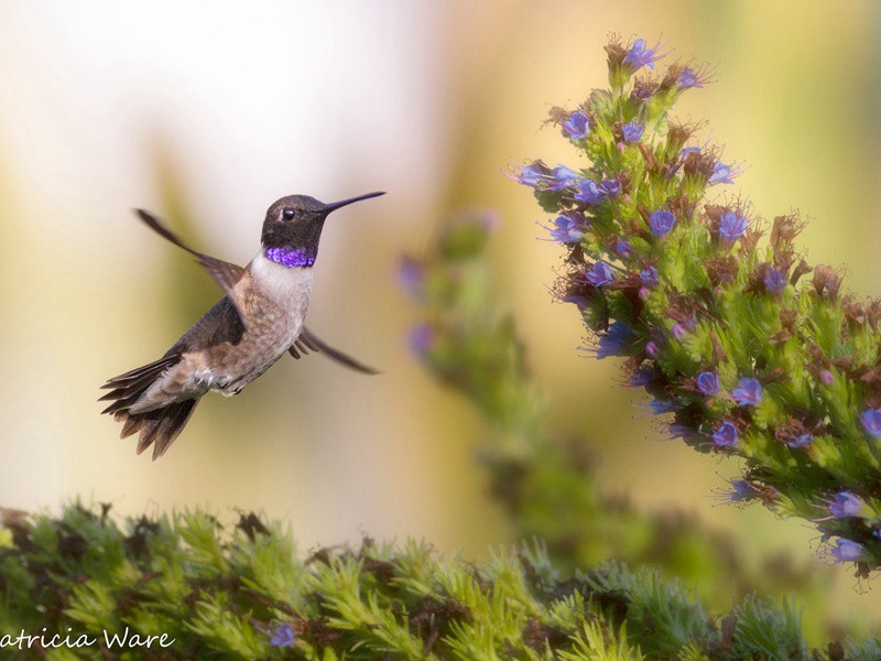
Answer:
<path fill-rule="evenodd" d="M 525 347 L 510 314 L 498 308 L 486 247 L 493 223 L 463 214 L 445 223 L 420 259 L 401 263 L 402 285 L 420 311 L 411 346 L 429 373 L 460 392 L 488 423 L 480 444 L 489 490 L 518 540 L 541 539 L 555 566 L 574 571 L 609 557 L 649 564 L 718 606 L 759 586 L 798 590 L 811 604 L 823 593 L 808 567 L 765 559 L 749 568 L 728 535 L 677 511 L 645 511 L 603 492 L 580 434 L 548 433 L 546 398 L 530 376 Z M 822 609 L 813 599 L 813 610 Z"/>

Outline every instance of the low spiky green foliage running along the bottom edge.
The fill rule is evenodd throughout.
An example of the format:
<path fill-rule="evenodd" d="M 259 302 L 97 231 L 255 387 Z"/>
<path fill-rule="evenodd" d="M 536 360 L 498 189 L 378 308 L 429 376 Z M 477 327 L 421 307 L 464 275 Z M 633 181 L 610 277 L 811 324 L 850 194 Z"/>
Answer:
<path fill-rule="evenodd" d="M 254 514 L 230 529 L 204 511 L 120 524 L 107 509 L 3 510 L 4 659 L 842 658 L 808 651 L 785 605 L 749 598 L 720 618 L 646 568 L 561 577 L 540 545 L 471 563 L 366 539 L 303 560 L 281 524 Z M 284 629 L 290 644 L 273 644 Z M 35 637 L 30 649 L 19 631 Z M 105 631 L 173 642 L 122 648 Z M 40 649 L 55 633 L 96 642 Z M 879 649 L 847 644 L 853 659 Z"/>

